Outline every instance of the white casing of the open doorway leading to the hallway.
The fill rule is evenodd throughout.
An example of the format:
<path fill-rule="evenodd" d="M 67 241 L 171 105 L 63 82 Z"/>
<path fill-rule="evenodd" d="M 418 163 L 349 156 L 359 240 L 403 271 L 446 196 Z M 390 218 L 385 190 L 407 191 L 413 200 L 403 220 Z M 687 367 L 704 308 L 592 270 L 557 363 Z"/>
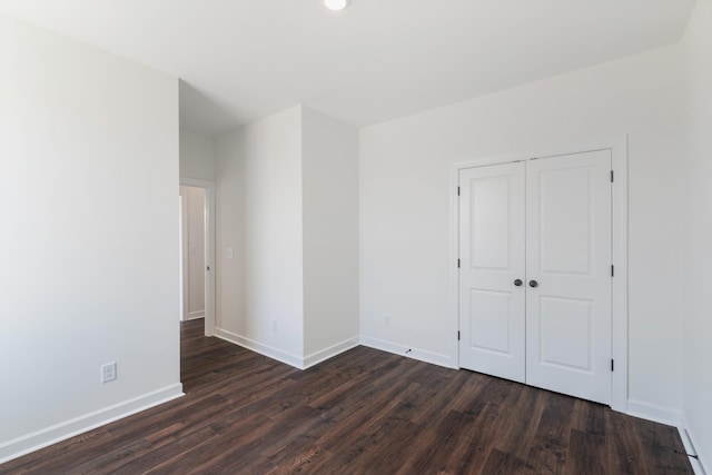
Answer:
<path fill-rule="evenodd" d="M 215 335 L 215 182 L 180 177 L 180 185 L 205 189 L 205 336 Z"/>

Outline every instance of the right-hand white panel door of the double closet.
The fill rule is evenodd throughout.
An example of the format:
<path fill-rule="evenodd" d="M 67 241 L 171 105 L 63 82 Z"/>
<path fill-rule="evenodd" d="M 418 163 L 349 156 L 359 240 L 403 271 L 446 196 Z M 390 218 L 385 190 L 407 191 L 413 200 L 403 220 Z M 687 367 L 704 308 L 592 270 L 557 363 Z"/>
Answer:
<path fill-rule="evenodd" d="M 611 400 L 611 152 L 526 169 L 526 383 Z"/>

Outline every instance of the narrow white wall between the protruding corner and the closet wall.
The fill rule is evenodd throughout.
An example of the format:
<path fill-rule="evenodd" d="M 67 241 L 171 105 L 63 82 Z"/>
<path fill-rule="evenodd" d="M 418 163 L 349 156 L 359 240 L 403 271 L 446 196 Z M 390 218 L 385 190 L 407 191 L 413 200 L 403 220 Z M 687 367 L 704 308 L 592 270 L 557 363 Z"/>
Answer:
<path fill-rule="evenodd" d="M 358 130 L 303 107 L 306 364 L 358 344 Z"/>

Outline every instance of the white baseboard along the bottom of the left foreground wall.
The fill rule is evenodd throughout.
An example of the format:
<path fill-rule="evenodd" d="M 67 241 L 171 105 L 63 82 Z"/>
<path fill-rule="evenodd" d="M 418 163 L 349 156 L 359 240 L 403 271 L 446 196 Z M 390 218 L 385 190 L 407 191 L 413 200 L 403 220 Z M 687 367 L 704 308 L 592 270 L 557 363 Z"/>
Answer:
<path fill-rule="evenodd" d="M 182 384 L 178 383 L 4 442 L 0 444 L 0 464 L 184 395 Z"/>

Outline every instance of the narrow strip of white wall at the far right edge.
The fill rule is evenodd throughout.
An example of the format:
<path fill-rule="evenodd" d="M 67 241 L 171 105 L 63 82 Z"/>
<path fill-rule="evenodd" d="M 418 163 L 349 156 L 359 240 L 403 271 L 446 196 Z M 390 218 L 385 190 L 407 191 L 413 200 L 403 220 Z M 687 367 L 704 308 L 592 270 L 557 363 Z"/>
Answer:
<path fill-rule="evenodd" d="M 685 59 L 686 256 L 683 414 L 712 469 L 712 4 L 698 2 L 682 42 Z"/>

